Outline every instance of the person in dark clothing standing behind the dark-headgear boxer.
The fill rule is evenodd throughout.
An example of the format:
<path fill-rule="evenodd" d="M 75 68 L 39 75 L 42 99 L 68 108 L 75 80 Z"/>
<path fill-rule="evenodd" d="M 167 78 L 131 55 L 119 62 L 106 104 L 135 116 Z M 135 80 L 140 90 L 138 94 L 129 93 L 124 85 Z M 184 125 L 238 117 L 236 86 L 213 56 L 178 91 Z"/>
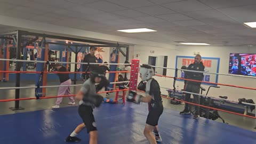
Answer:
<path fill-rule="evenodd" d="M 99 65 L 94 65 L 94 64 L 90 65 L 90 63 L 97 63 L 98 62 L 97 57 L 95 57 L 95 55 L 94 55 L 95 51 L 97 50 L 97 47 L 91 46 L 89 50 L 90 50 L 90 53 L 86 54 L 84 56 L 84 60 L 83 60 L 83 62 L 89 62 L 89 65 L 88 64 L 83 64 L 83 66 L 82 66 L 83 71 L 85 72 L 85 73 L 82 74 L 83 81 L 85 81 L 86 79 L 89 78 L 89 74 L 87 73 L 87 71 L 90 71 L 94 67 L 99 66 Z"/>

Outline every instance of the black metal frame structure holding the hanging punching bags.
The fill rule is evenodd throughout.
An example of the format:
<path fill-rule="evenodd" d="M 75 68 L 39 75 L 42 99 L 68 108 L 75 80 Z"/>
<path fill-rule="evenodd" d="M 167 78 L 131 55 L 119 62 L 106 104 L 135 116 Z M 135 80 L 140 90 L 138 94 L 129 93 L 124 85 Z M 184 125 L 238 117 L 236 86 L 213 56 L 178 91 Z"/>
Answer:
<path fill-rule="evenodd" d="M 31 39 L 27 44 L 25 45 L 21 45 L 21 41 L 22 36 L 34 36 L 33 39 Z M 49 34 L 42 34 L 42 33 L 33 33 L 33 32 L 29 32 L 29 31 L 24 31 L 24 30 L 16 30 L 16 31 L 11 31 L 8 33 L 2 33 L 0 34 L 0 38 L 4 38 L 4 39 L 12 39 L 16 44 L 16 48 L 17 48 L 17 54 L 16 54 L 16 58 L 19 60 L 21 57 L 21 49 L 22 47 L 26 47 L 27 45 L 37 41 L 39 39 L 39 37 L 43 37 L 43 39 L 45 38 L 54 38 L 54 39 L 64 39 L 66 41 L 76 41 L 76 42 L 85 42 L 85 43 L 94 43 L 96 45 L 86 45 L 86 44 L 81 44 L 81 45 L 77 45 L 77 44 L 65 44 L 65 43 L 54 43 L 54 42 L 47 42 L 49 44 L 57 44 L 57 45 L 66 45 L 69 47 L 69 49 L 71 51 L 73 51 L 76 55 L 75 55 L 75 62 L 77 62 L 77 54 L 78 52 L 81 50 L 78 50 L 78 46 L 97 46 L 97 47 L 116 47 L 117 50 L 119 50 L 124 57 L 126 57 L 126 60 L 129 60 L 129 45 L 125 45 L 125 44 L 118 44 L 118 43 L 108 43 L 108 42 L 100 42 L 100 41 L 93 41 L 93 40 L 89 40 L 89 39 L 81 39 L 81 38 L 73 38 L 73 37 L 65 37 L 65 36 L 57 36 L 57 35 L 49 35 Z M 75 46 L 76 47 L 76 51 L 72 50 L 70 48 L 70 46 Z M 121 47 L 125 47 L 126 48 L 126 54 L 121 50 Z M 75 71 L 77 71 L 76 69 L 77 64 L 75 64 Z M 20 71 L 21 68 L 21 63 L 17 62 L 16 64 L 16 70 Z M 20 87 L 20 73 L 16 74 L 16 78 L 15 78 L 15 87 Z M 76 84 L 76 73 L 75 73 L 75 81 L 74 84 Z M 20 89 L 15 89 L 15 99 L 19 99 L 20 98 Z M 20 107 L 19 105 L 19 101 L 15 101 L 15 107 L 10 108 L 12 110 L 19 110 L 19 109 L 24 109 L 22 107 Z"/>

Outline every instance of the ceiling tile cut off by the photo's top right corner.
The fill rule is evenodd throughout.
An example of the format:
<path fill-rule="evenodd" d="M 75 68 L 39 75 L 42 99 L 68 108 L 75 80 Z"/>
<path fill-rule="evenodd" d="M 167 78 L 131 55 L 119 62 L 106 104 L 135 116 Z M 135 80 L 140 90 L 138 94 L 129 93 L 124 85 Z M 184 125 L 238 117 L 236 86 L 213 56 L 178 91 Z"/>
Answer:
<path fill-rule="evenodd" d="M 235 7 L 235 6 L 244 6 L 244 5 L 254 5 L 256 4 L 255 0 L 199 0 L 204 4 L 207 4 L 214 9 L 226 8 L 226 7 Z"/>

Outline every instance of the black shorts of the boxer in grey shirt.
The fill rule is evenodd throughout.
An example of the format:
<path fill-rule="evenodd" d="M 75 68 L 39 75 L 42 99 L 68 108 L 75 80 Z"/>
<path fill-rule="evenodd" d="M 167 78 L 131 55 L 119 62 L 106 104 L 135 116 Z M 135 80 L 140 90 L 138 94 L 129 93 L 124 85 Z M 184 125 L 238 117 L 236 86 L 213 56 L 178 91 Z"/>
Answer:
<path fill-rule="evenodd" d="M 93 109 L 90 106 L 80 105 L 78 107 L 78 114 L 83 119 L 87 133 L 91 131 L 97 131 L 94 116 L 92 114 Z"/>

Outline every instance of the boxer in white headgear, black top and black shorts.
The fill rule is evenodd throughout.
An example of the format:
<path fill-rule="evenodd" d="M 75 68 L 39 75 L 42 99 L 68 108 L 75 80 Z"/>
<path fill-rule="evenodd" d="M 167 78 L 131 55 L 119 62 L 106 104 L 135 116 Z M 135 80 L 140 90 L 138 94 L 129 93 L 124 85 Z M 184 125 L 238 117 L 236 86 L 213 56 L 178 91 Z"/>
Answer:
<path fill-rule="evenodd" d="M 162 115 L 164 109 L 160 86 L 156 79 L 153 78 L 154 69 L 151 66 L 143 64 L 142 66 L 140 66 L 139 73 L 141 82 L 138 84 L 137 89 L 145 91 L 146 97 L 143 97 L 142 95 L 134 91 L 129 91 L 127 101 L 148 103 L 149 113 L 143 133 L 150 144 L 156 144 L 157 141 L 162 141 L 162 138 L 158 131 L 158 120 L 159 117 Z"/>

